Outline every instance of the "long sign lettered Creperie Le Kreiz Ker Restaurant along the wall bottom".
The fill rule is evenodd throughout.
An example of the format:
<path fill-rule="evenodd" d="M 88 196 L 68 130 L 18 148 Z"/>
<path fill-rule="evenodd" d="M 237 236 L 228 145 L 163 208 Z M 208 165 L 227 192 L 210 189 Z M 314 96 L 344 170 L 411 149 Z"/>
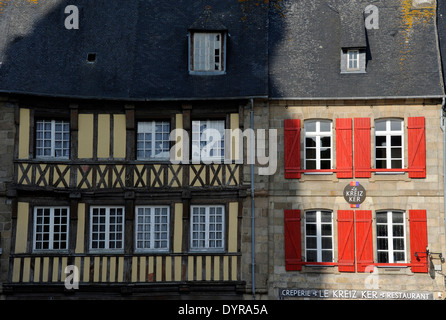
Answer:
<path fill-rule="evenodd" d="M 381 290 L 279 289 L 279 298 L 346 300 L 433 300 L 432 292 Z"/>

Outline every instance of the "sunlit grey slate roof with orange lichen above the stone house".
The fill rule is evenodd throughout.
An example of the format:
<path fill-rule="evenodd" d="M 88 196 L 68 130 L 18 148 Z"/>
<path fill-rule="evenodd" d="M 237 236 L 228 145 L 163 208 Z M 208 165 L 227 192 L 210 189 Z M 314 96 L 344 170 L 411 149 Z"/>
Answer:
<path fill-rule="evenodd" d="M 435 10 L 412 10 L 411 3 L 282 1 L 282 12 L 270 14 L 270 96 L 441 96 Z M 361 22 L 368 5 L 379 9 L 379 29 L 367 30 Z M 366 73 L 341 74 L 341 48 L 364 42 Z"/>

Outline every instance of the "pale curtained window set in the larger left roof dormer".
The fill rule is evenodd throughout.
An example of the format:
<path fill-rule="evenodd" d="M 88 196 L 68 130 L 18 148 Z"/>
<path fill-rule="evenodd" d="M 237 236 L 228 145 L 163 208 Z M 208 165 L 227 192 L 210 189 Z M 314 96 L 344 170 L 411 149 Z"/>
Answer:
<path fill-rule="evenodd" d="M 223 74 L 226 60 L 226 33 L 193 32 L 190 37 L 190 73 Z"/>

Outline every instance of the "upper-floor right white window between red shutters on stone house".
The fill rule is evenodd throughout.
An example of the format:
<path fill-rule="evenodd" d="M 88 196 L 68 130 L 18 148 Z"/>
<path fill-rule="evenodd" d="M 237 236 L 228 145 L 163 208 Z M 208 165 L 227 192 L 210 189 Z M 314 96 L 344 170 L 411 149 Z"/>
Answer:
<path fill-rule="evenodd" d="M 375 121 L 375 168 L 404 168 L 404 120 Z"/>

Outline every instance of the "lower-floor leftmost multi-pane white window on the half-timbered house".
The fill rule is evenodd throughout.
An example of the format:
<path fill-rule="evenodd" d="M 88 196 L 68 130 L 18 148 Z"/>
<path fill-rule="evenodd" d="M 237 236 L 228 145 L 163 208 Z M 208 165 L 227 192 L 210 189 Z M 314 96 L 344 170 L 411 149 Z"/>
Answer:
<path fill-rule="evenodd" d="M 68 250 L 69 221 L 69 207 L 34 207 L 33 251 Z"/>

